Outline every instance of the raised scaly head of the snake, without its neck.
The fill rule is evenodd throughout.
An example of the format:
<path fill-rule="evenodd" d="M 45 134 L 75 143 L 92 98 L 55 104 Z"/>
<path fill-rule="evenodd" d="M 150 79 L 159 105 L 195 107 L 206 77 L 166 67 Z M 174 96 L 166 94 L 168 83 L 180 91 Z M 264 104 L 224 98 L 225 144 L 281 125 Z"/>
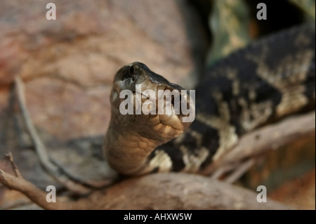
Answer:
<path fill-rule="evenodd" d="M 112 128 L 133 132 L 162 144 L 176 138 L 193 120 L 194 100 L 145 64 L 133 62 L 115 74 L 112 93 Z"/>

